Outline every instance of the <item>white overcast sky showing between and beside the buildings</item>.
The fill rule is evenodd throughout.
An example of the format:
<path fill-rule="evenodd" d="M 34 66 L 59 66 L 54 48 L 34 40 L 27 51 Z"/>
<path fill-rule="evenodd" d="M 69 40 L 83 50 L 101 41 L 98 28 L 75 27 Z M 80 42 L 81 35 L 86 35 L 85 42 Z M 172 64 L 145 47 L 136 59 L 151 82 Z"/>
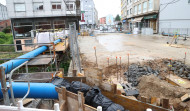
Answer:
<path fill-rule="evenodd" d="M 0 3 L 6 4 L 6 0 L 0 0 Z M 114 17 L 121 15 L 121 3 L 120 0 L 94 0 L 96 9 L 98 10 L 98 17 L 105 17 L 112 14 Z"/>

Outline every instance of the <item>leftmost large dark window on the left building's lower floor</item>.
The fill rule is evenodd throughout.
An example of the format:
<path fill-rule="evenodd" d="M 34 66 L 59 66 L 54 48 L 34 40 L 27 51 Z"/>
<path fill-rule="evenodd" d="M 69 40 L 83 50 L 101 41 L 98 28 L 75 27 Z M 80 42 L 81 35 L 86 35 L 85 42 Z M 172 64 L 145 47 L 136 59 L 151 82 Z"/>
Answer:
<path fill-rule="evenodd" d="M 15 22 L 13 24 L 13 29 L 16 38 L 26 38 L 31 37 L 31 30 L 33 30 L 32 22 Z"/>

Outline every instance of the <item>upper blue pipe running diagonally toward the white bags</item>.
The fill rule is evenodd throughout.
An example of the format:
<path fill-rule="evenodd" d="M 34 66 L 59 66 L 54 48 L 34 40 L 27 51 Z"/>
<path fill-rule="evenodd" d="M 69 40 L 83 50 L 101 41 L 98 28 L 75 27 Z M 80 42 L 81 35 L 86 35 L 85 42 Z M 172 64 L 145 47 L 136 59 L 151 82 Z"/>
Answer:
<path fill-rule="evenodd" d="M 54 41 L 54 44 L 57 44 L 59 42 L 61 42 L 61 39 Z M 17 57 L 16 59 L 5 62 L 5 63 L 1 64 L 0 66 L 3 66 L 5 68 L 5 74 L 7 74 L 7 73 L 11 72 L 12 69 L 14 69 L 14 68 L 18 67 L 19 65 L 23 64 L 24 62 L 30 60 L 30 59 L 22 59 L 22 58 L 34 58 L 34 57 L 40 55 L 41 53 L 43 53 L 44 51 L 46 51 L 47 49 L 48 49 L 47 46 L 39 47 L 36 50 L 33 50 L 20 57 Z"/>

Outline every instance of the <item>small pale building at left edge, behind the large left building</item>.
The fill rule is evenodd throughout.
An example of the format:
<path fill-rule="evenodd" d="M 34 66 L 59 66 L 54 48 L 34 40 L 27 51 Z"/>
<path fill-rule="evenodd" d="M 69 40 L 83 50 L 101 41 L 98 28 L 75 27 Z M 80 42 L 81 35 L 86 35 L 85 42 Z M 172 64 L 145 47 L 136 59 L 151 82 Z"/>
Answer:
<path fill-rule="evenodd" d="M 7 19 L 9 19 L 7 13 L 7 7 L 0 3 L 0 21 Z"/>

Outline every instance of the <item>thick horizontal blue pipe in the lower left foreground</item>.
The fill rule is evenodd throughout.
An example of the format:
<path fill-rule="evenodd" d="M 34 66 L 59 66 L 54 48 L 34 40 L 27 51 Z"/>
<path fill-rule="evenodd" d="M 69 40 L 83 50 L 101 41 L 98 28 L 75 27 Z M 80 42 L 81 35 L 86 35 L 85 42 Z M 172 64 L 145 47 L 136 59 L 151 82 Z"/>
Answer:
<path fill-rule="evenodd" d="M 9 84 L 7 82 L 7 84 Z M 15 98 L 23 98 L 28 91 L 28 83 L 13 82 L 13 91 Z M 0 84 L 1 87 L 1 84 Z M 55 90 L 55 85 L 52 83 L 30 83 L 30 93 L 27 98 L 35 99 L 58 99 L 58 93 Z M 10 95 L 10 90 L 9 97 Z M 3 93 L 0 90 L 0 98 L 3 98 Z"/>

